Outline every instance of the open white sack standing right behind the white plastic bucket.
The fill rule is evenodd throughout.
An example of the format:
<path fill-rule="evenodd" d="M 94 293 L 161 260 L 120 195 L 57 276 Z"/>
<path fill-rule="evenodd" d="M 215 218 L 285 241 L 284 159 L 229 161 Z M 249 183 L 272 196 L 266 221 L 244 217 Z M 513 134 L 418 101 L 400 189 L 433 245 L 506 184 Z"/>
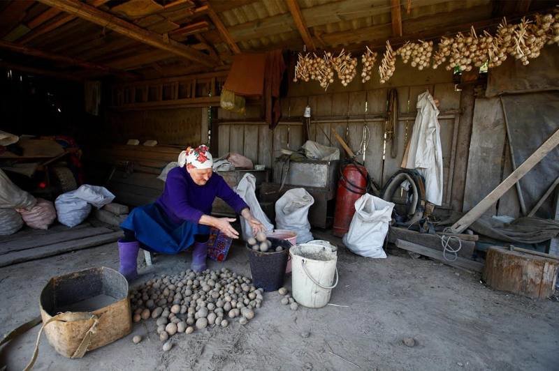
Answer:
<path fill-rule="evenodd" d="M 284 193 L 275 203 L 275 227 L 297 234 L 297 243 L 312 240 L 309 209 L 314 198 L 305 188 L 293 188 Z"/>

